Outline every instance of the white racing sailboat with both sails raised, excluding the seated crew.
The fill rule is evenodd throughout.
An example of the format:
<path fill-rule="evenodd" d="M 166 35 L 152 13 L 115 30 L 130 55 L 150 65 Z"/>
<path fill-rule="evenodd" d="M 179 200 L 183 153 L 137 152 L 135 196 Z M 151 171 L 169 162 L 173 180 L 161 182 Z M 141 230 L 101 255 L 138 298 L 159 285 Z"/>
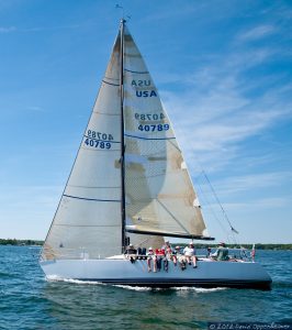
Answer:
<path fill-rule="evenodd" d="M 47 277 L 114 285 L 269 288 L 257 262 L 199 258 L 148 272 L 126 246 L 161 248 L 165 238 L 214 240 L 181 148 L 126 21 L 111 57 L 40 264 Z"/>

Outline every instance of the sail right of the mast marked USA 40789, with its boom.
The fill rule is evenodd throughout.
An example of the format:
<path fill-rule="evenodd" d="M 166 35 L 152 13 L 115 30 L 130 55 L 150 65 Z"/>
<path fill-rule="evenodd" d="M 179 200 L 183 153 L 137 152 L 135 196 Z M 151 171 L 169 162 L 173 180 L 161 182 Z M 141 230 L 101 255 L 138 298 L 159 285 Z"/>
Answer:
<path fill-rule="evenodd" d="M 126 28 L 124 52 L 126 230 L 210 239 L 171 123 Z"/>

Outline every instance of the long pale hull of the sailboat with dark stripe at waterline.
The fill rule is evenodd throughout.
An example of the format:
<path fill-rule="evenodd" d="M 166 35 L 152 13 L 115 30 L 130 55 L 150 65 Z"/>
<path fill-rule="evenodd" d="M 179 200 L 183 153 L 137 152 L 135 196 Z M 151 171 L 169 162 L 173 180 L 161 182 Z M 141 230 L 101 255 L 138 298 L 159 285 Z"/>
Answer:
<path fill-rule="evenodd" d="M 238 287 L 269 289 L 271 278 L 258 263 L 198 261 L 181 271 L 179 265 L 169 262 L 168 272 L 147 271 L 147 262 L 137 260 L 131 263 L 124 258 L 108 260 L 57 260 L 41 261 L 47 277 L 97 280 L 108 284 L 131 286 L 171 287 Z"/>

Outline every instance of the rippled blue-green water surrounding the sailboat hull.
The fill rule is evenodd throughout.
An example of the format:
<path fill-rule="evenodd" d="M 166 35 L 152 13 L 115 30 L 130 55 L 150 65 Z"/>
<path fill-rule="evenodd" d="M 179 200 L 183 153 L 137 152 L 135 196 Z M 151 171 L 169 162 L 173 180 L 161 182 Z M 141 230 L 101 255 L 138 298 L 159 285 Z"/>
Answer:
<path fill-rule="evenodd" d="M 257 252 L 273 279 L 271 292 L 48 282 L 38 252 L 0 246 L 0 329 L 206 329 L 207 321 L 292 321 L 291 251 Z"/>

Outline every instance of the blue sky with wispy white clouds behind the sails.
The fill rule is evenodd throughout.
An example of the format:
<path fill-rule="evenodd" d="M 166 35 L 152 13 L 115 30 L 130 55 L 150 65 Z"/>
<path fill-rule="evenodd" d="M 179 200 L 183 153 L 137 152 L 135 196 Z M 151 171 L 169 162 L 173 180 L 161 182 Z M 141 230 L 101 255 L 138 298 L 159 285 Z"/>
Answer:
<path fill-rule="evenodd" d="M 283 0 L 0 0 L 0 238 L 46 237 L 117 33 L 116 3 L 209 233 L 229 240 L 226 215 L 237 242 L 291 243 L 292 2 Z"/>

